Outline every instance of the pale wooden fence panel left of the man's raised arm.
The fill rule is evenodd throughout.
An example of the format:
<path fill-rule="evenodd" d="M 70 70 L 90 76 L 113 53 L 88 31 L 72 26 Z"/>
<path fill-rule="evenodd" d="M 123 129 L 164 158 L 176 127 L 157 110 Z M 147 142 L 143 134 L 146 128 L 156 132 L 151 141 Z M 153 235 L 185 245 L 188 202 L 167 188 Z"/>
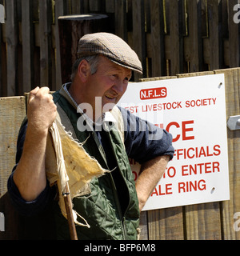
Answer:
<path fill-rule="evenodd" d="M 7 179 L 15 165 L 18 130 L 26 116 L 26 98 L 0 98 L 0 116 L 0 212 L 5 215 L 5 232 L 0 232 L 0 240 L 55 239 L 51 204 L 36 216 L 23 217 L 6 192 Z"/>

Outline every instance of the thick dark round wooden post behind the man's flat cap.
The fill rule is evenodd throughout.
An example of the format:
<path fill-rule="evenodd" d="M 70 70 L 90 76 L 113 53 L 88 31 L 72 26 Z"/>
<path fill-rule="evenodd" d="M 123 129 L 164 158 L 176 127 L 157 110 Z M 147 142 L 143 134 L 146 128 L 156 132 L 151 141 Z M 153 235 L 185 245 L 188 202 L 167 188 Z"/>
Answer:
<path fill-rule="evenodd" d="M 82 14 L 58 18 L 62 83 L 70 82 L 72 66 L 77 59 L 78 41 L 84 34 L 111 32 L 104 14 Z"/>

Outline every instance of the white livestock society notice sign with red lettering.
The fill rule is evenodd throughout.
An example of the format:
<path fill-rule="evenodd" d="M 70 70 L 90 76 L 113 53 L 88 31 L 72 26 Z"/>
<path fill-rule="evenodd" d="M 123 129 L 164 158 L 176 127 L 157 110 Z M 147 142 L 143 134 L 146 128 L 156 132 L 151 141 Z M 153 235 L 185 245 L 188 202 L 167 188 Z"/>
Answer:
<path fill-rule="evenodd" d="M 230 199 L 224 74 L 133 83 L 118 106 L 173 135 L 174 159 L 144 210 Z"/>

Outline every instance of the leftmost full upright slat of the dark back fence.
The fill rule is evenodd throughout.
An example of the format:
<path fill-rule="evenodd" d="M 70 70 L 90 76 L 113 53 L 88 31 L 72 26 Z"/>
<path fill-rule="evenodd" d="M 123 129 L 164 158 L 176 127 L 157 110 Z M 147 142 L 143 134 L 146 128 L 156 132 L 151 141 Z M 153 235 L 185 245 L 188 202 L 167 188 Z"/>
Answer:
<path fill-rule="evenodd" d="M 6 4 L 6 44 L 7 44 L 7 96 L 14 96 L 18 84 L 18 21 L 17 2 Z"/>

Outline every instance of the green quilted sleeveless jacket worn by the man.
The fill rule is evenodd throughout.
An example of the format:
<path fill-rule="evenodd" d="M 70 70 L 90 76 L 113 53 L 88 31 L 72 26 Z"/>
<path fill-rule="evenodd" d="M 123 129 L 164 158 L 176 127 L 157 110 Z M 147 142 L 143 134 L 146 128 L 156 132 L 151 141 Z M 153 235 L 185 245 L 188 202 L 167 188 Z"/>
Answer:
<path fill-rule="evenodd" d="M 105 152 L 96 132 L 87 130 L 80 132 L 78 130 L 77 122 L 81 114 L 77 113 L 74 102 L 71 101 L 66 91 L 61 89 L 53 96 L 54 102 L 58 106 L 58 114 L 61 112 L 63 115 L 66 114 L 68 118 L 64 118 L 64 122 L 70 121 L 79 142 L 86 141 L 83 145 L 86 152 L 97 159 L 102 168 L 109 169 Z M 67 123 L 62 124 L 68 127 Z M 73 199 L 74 210 L 90 225 L 90 228 L 76 226 L 78 239 L 137 239 L 140 213 L 129 159 L 116 127 L 106 122 L 104 125 L 107 130 L 106 138 L 108 138 L 114 153 L 117 168 L 100 178 L 94 178 L 90 182 L 89 190 L 86 190 L 81 197 Z M 86 140 L 86 138 L 88 139 Z M 119 184 L 121 191 L 119 191 Z M 122 197 L 119 198 L 119 195 Z M 59 239 L 70 238 L 66 218 L 62 216 L 57 205 L 56 226 Z"/>

